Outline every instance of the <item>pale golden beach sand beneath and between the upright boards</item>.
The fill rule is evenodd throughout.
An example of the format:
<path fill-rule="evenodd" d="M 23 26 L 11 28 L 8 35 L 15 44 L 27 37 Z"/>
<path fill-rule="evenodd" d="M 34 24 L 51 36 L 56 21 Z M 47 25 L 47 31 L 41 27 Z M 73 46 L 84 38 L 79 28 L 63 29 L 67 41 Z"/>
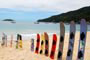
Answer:
<path fill-rule="evenodd" d="M 86 40 L 86 48 L 85 48 L 85 60 L 90 60 L 90 32 L 87 33 L 87 40 Z M 78 43 L 79 43 L 80 33 L 77 32 L 75 35 L 75 47 L 73 53 L 73 60 L 76 60 L 77 57 L 77 50 L 78 50 Z M 49 37 L 50 47 L 49 52 L 52 46 L 52 36 Z M 69 41 L 69 34 L 65 34 L 65 42 L 64 42 L 64 53 L 63 53 L 63 60 L 66 60 L 67 55 L 67 48 L 68 48 L 68 41 Z M 1 42 L 0 42 L 1 44 Z M 15 42 L 13 42 L 13 47 L 10 47 L 10 42 L 8 42 L 7 47 L 0 46 L 0 60 L 50 60 L 50 57 L 46 57 L 44 54 L 35 54 L 30 50 L 30 40 L 23 40 L 23 48 L 16 49 Z M 36 41 L 35 41 L 36 44 Z M 57 48 L 55 52 L 55 60 L 57 60 L 57 52 L 58 52 L 58 44 L 59 44 L 59 36 L 57 41 Z M 50 55 L 50 53 L 49 53 Z"/>

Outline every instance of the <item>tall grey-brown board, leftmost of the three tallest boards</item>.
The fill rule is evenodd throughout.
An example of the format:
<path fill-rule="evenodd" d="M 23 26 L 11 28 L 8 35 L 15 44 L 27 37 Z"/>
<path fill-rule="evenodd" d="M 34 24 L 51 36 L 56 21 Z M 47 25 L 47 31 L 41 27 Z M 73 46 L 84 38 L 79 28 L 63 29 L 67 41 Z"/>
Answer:
<path fill-rule="evenodd" d="M 62 60 L 63 47 L 64 47 L 64 36 L 65 36 L 65 26 L 63 22 L 60 22 L 60 40 L 59 40 L 57 60 Z"/>

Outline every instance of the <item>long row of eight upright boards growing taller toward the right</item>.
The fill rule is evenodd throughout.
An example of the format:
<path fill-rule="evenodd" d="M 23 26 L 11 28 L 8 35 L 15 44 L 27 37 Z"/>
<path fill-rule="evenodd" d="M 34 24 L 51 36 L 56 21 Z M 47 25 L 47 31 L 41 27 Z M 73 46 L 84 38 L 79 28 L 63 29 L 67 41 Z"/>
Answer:
<path fill-rule="evenodd" d="M 66 60 L 72 60 L 74 41 L 75 41 L 75 32 L 76 32 L 76 25 L 75 25 L 74 21 L 71 21 L 69 45 L 68 45 Z M 86 21 L 85 21 L 85 19 L 81 19 L 80 40 L 79 40 L 79 46 L 78 46 L 77 60 L 84 60 L 86 33 L 87 33 Z M 65 36 L 65 26 L 64 26 L 63 22 L 60 22 L 60 40 L 59 40 L 57 60 L 62 60 L 63 47 L 64 47 L 64 36 Z M 41 40 L 41 43 L 40 43 L 40 40 Z M 35 53 L 36 54 L 39 54 L 39 53 L 45 54 L 45 56 L 49 56 L 49 44 L 50 43 L 51 42 L 49 42 L 49 36 L 46 32 L 41 35 L 41 39 L 40 39 L 40 34 L 37 34 Z M 40 44 L 41 44 L 41 47 L 40 47 Z M 51 52 L 50 52 L 51 59 L 54 59 L 56 44 L 57 44 L 57 35 L 53 34 L 53 42 L 52 42 L 52 47 L 51 47 Z M 32 51 L 34 51 L 34 39 L 32 39 L 31 49 L 32 49 Z M 39 51 L 39 49 L 40 49 L 40 51 Z"/>

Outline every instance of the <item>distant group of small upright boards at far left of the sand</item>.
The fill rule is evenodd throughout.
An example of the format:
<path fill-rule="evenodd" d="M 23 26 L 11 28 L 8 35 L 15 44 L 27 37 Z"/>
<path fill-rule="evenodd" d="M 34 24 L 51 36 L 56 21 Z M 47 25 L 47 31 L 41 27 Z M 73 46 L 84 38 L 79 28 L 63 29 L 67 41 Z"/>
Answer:
<path fill-rule="evenodd" d="M 11 35 L 10 47 L 12 47 L 12 44 L 13 44 L 13 35 Z M 1 46 L 7 47 L 7 35 L 5 33 L 3 33 L 3 36 L 2 36 Z M 16 40 L 16 49 L 18 48 L 22 48 L 22 36 L 20 34 L 17 34 L 17 40 Z"/>

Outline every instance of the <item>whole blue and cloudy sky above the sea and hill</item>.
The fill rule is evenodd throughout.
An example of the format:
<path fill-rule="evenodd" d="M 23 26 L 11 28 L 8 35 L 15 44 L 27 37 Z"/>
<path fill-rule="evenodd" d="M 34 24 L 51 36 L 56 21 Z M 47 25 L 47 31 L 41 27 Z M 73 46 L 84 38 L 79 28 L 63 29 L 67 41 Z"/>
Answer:
<path fill-rule="evenodd" d="M 37 21 L 90 6 L 90 0 L 0 0 L 0 20 Z"/>

